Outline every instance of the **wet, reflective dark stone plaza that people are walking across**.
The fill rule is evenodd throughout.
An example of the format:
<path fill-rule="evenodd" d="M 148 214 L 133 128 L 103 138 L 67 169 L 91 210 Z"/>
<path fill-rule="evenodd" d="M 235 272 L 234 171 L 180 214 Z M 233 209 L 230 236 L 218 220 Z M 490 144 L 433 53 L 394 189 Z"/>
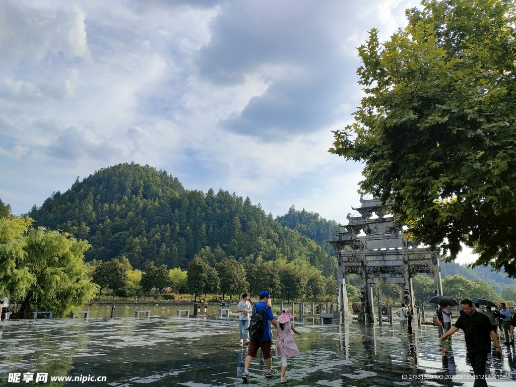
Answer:
<path fill-rule="evenodd" d="M 314 324 L 315 322 L 315 324 Z M 439 342 L 437 328 L 415 327 L 401 336 L 396 324 L 374 327 L 295 322 L 301 356 L 289 359 L 288 386 L 469 386 L 471 367 L 464 337 Z M 239 344 L 238 321 L 218 318 L 38 319 L 2 322 L 0 385 L 111 385 L 212 387 L 243 384 L 246 346 Z M 254 359 L 250 385 L 280 385 L 266 379 L 263 359 Z M 12 373 L 47 373 L 45 383 L 9 382 Z M 488 384 L 516 385 L 516 351 L 489 356 Z M 104 376 L 105 382 L 51 381 L 51 377 Z"/>

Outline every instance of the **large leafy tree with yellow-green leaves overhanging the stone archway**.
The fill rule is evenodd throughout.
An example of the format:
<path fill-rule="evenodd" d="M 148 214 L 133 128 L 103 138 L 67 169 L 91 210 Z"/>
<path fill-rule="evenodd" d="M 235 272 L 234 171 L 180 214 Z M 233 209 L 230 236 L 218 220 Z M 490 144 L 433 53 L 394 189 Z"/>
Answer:
<path fill-rule="evenodd" d="M 516 277 L 516 3 L 422 5 L 359 48 L 366 95 L 330 152 L 365 163 L 361 189 L 415 240 Z"/>

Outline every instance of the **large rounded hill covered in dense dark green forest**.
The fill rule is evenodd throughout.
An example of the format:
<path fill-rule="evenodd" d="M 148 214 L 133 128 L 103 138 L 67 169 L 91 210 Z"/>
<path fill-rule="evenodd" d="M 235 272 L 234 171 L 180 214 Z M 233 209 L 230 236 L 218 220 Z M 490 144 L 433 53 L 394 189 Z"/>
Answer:
<path fill-rule="evenodd" d="M 134 163 L 77 179 L 68 191 L 55 192 L 28 215 L 35 225 L 87 239 L 92 248 L 86 261 L 125 256 L 135 268 L 147 260 L 186 268 L 209 246 L 219 252 L 214 255 L 219 261 L 224 256 L 246 263 L 285 257 L 306 261 L 324 276 L 336 272 L 334 257 L 305 236 L 310 233 L 284 227 L 249 198 L 223 190 L 187 190 L 166 171 Z M 317 234 L 317 227 L 315 235 L 324 238 L 326 231 Z"/>

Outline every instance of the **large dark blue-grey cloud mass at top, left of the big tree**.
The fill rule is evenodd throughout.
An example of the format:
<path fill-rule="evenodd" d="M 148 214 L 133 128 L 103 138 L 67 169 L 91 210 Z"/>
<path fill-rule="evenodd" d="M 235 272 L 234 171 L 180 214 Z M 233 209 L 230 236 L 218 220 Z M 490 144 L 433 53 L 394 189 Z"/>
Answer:
<path fill-rule="evenodd" d="M 235 85 L 258 74 L 269 87 L 252 98 L 239 117 L 221 125 L 269 140 L 335 122 L 341 104 L 358 90 L 358 59 L 348 41 L 352 8 L 357 7 L 344 2 L 222 6 L 212 25 L 212 40 L 196 59 L 201 76 L 214 84 Z"/>

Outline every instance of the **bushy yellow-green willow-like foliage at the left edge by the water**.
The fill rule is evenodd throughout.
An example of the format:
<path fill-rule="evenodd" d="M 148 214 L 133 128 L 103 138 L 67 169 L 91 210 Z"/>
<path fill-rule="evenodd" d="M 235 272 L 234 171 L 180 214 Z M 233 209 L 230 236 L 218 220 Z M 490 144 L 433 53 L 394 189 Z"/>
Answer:
<path fill-rule="evenodd" d="M 0 293 L 22 317 L 37 310 L 63 317 L 94 294 L 84 252 L 89 245 L 69 234 L 30 228 L 30 218 L 0 218 Z"/>

